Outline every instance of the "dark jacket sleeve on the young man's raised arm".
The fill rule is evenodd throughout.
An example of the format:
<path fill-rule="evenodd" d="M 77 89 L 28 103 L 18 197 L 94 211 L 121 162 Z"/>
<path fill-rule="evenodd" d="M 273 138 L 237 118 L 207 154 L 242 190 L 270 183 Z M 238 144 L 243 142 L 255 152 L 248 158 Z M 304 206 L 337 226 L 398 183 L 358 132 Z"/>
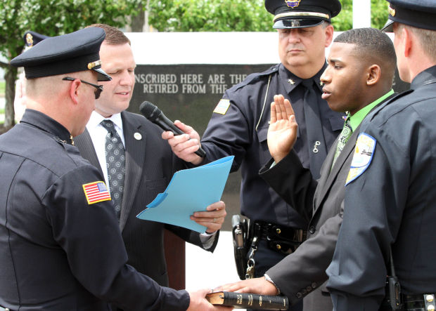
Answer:
<path fill-rule="evenodd" d="M 297 154 L 289 154 L 271 167 L 271 159 L 259 171 L 259 175 L 306 220 L 312 218 L 314 193 L 317 181 L 309 169 L 304 168 Z"/>

